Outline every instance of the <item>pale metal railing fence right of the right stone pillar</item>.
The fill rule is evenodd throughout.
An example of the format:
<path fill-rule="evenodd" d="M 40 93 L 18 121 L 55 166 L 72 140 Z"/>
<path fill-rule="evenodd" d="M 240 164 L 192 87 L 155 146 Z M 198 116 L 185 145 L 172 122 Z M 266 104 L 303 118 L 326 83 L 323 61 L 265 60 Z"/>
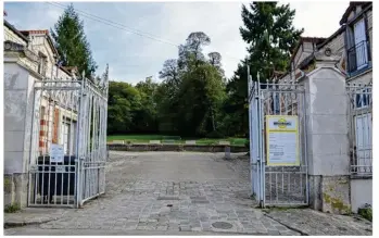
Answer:
<path fill-rule="evenodd" d="M 372 86 L 348 85 L 351 174 L 372 176 Z"/>

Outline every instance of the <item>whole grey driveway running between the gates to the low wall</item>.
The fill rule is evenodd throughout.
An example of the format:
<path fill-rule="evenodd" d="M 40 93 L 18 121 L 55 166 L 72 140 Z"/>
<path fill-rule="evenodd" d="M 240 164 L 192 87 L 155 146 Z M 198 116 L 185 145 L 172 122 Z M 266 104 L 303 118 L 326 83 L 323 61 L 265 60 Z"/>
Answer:
<path fill-rule="evenodd" d="M 301 235 L 286 224 L 288 215 L 256 209 L 249 197 L 248 160 L 223 155 L 111 152 L 104 196 L 55 221 L 5 234 Z"/>

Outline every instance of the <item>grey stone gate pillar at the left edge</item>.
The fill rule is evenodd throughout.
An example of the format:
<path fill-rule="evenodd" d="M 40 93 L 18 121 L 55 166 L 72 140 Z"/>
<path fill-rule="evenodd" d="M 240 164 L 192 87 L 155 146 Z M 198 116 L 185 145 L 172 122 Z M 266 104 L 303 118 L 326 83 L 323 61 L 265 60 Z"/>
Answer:
<path fill-rule="evenodd" d="M 4 62 L 4 205 L 27 204 L 33 84 L 30 72 Z"/>

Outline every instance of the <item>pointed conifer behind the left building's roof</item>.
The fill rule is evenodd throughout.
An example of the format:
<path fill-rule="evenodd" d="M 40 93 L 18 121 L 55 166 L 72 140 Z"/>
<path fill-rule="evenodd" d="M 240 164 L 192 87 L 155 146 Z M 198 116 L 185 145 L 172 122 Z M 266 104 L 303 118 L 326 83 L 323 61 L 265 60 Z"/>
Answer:
<path fill-rule="evenodd" d="M 73 4 L 67 7 L 55 23 L 54 30 L 50 32 L 62 65 L 77 66 L 80 75 L 85 72 L 86 77 L 91 77 L 98 66 L 84 32 L 84 23 Z"/>

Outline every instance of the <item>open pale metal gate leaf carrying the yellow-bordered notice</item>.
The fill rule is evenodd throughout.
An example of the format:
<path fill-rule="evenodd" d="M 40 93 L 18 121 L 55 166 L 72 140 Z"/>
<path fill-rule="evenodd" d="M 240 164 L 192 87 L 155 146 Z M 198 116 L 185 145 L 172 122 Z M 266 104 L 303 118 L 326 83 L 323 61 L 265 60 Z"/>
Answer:
<path fill-rule="evenodd" d="M 308 204 L 304 92 L 299 84 L 253 83 L 249 76 L 251 184 L 263 208 Z M 292 123 L 286 120 L 292 120 L 292 129 L 270 133 L 273 120 L 283 127 Z M 274 139 L 278 145 L 271 145 Z M 295 152 L 283 149 L 286 143 Z M 290 154 L 289 162 L 273 163 L 275 156 L 285 158 L 286 153 Z"/>

